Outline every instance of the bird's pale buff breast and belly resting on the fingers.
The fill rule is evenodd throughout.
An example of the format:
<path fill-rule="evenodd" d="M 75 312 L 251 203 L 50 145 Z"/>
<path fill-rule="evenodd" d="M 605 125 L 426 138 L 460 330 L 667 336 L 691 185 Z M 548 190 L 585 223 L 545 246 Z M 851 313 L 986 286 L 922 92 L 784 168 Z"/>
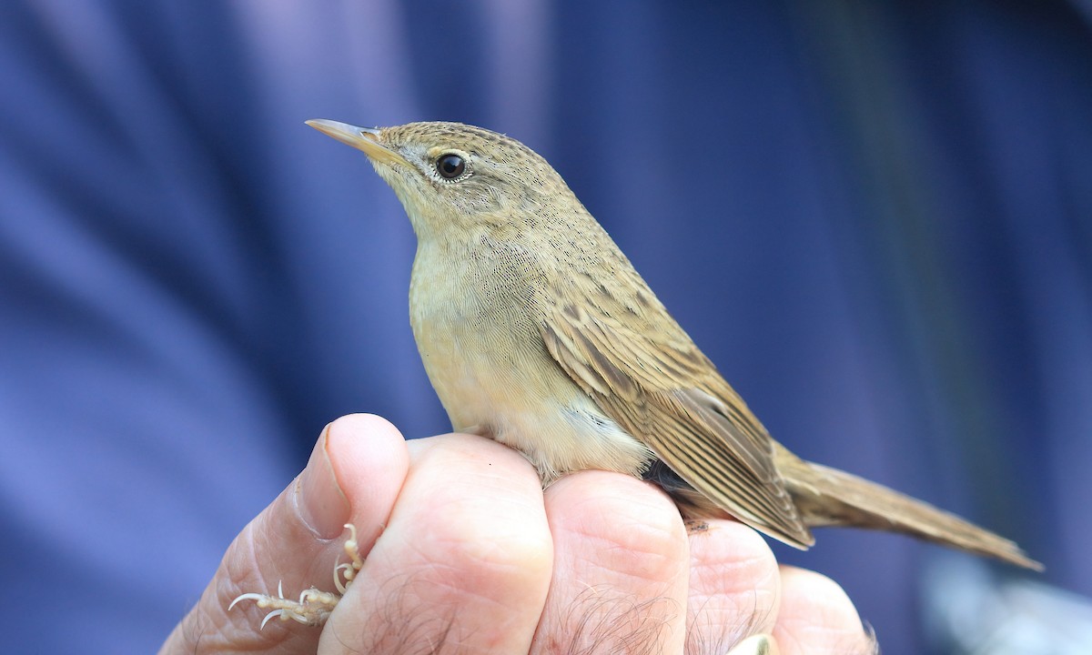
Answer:
<path fill-rule="evenodd" d="M 449 285 L 455 288 L 441 288 Z M 519 450 L 544 484 L 589 468 L 645 469 L 649 449 L 561 370 L 519 302 L 500 294 L 471 294 L 485 302 L 454 294 L 465 296 L 465 287 L 450 278 L 426 286 L 415 277 L 411 287 L 417 348 L 455 430 Z"/>

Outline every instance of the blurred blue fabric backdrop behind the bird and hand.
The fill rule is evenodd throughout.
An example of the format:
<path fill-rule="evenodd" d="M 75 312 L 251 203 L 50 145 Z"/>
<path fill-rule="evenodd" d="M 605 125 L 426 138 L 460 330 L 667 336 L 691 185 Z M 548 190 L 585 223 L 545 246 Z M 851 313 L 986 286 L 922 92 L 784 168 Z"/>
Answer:
<path fill-rule="evenodd" d="M 448 429 L 406 318 L 408 223 L 308 118 L 525 142 L 775 437 L 1092 593 L 1090 17 L 0 3 L 5 644 L 149 652 L 327 421 Z M 779 556 L 841 582 L 886 652 L 926 652 L 939 551 L 818 538 Z"/>

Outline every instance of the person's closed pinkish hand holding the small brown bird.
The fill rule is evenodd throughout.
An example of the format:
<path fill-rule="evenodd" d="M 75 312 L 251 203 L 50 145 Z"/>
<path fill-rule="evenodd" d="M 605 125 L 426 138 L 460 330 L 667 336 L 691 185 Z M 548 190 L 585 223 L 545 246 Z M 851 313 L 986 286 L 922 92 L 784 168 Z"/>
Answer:
<path fill-rule="evenodd" d="M 321 628 L 258 627 L 240 594 L 333 591 L 342 525 L 365 562 Z M 289 594 L 290 595 L 290 594 Z M 590 471 L 542 491 L 488 439 L 404 441 L 369 415 L 337 419 L 307 468 L 228 548 L 161 653 L 725 653 L 771 633 L 781 653 L 870 653 L 853 604 L 779 568 L 732 521 L 688 533 L 658 489 Z"/>

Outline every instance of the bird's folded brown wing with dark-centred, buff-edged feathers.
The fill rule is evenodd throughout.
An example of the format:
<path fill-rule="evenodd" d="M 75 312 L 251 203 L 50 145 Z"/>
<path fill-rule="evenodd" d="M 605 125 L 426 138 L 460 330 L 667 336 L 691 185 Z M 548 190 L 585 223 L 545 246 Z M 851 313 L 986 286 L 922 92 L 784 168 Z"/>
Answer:
<path fill-rule="evenodd" d="M 705 498 L 791 546 L 810 546 L 774 466 L 773 442 L 738 394 L 654 297 L 629 303 L 602 291 L 583 306 L 543 308 L 539 330 L 558 365 Z M 632 320 L 618 320 L 621 312 Z M 641 314 L 663 317 L 669 329 L 656 320 L 658 330 L 634 330 L 650 324 Z"/>

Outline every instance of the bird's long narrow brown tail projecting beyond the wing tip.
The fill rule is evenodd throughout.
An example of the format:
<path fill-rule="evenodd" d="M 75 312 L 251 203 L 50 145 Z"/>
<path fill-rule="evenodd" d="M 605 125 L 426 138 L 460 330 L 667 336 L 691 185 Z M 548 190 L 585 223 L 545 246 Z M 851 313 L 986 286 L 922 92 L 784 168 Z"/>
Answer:
<path fill-rule="evenodd" d="M 954 514 L 844 471 L 799 458 L 794 464 L 798 465 L 792 467 L 785 483 L 809 526 L 848 525 L 905 533 L 1018 567 L 1043 570 L 1043 564 L 1028 558 L 1013 541 Z"/>

